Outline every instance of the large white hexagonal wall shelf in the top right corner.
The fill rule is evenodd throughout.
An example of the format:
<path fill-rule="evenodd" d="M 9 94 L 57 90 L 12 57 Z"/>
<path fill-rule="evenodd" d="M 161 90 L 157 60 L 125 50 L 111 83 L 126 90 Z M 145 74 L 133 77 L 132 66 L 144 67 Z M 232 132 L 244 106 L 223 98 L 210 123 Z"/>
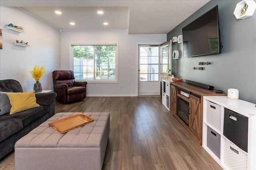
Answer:
<path fill-rule="evenodd" d="M 241 9 L 244 8 L 245 4 L 247 4 L 248 7 L 246 9 L 245 14 L 241 15 L 242 14 Z M 236 19 L 248 18 L 249 16 L 253 15 L 255 9 L 256 9 L 256 3 L 253 0 L 243 0 L 236 5 L 236 8 L 234 10 L 234 15 L 236 16 Z"/>

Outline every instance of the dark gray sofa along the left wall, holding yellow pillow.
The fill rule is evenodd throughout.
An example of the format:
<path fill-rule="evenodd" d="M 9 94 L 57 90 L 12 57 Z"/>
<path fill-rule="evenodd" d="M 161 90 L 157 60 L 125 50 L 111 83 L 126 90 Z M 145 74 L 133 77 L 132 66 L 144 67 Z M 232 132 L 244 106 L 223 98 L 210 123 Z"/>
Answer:
<path fill-rule="evenodd" d="M 0 92 L 23 92 L 21 84 L 12 79 L 0 80 Z M 14 150 L 16 141 L 55 114 L 56 93 L 37 93 L 39 107 L 10 115 L 0 115 L 0 159 Z M 2 108 L 2 104 L 1 107 Z"/>

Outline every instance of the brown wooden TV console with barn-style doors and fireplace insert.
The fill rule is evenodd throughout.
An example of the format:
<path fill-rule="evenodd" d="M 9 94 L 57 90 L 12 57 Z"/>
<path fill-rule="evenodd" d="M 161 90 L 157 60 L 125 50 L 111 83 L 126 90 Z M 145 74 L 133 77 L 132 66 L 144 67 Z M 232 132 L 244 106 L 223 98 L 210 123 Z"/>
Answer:
<path fill-rule="evenodd" d="M 189 95 L 186 97 L 180 94 L 184 91 Z M 202 123 L 203 123 L 203 96 L 227 96 L 227 94 L 216 93 L 214 90 L 207 90 L 186 82 L 170 82 L 170 113 L 180 121 L 192 137 L 202 146 Z M 189 125 L 177 115 L 178 100 L 180 97 L 189 102 Z"/>

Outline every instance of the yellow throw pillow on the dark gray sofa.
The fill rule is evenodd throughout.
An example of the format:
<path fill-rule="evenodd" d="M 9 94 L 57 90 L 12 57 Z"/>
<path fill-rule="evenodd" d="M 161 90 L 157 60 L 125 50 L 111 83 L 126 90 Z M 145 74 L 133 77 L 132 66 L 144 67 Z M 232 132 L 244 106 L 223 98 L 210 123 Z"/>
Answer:
<path fill-rule="evenodd" d="M 26 93 L 7 93 L 10 100 L 11 110 L 10 115 L 40 106 L 36 103 L 36 95 L 34 91 Z"/>

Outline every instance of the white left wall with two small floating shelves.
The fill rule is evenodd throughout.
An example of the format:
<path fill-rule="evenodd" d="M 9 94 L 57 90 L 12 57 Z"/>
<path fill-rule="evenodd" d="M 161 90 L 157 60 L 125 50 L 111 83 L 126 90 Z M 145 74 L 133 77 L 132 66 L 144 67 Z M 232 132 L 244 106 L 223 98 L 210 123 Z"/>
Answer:
<path fill-rule="evenodd" d="M 24 33 L 6 29 L 9 23 L 24 27 Z M 60 32 L 58 29 L 18 8 L 0 6 L 0 28 L 3 49 L 0 49 L 0 79 L 15 79 L 24 92 L 32 91 L 35 80 L 29 70 L 35 64 L 46 66 L 40 82 L 43 90 L 53 90 L 52 71 L 60 68 Z M 16 39 L 30 47 L 13 45 Z"/>

